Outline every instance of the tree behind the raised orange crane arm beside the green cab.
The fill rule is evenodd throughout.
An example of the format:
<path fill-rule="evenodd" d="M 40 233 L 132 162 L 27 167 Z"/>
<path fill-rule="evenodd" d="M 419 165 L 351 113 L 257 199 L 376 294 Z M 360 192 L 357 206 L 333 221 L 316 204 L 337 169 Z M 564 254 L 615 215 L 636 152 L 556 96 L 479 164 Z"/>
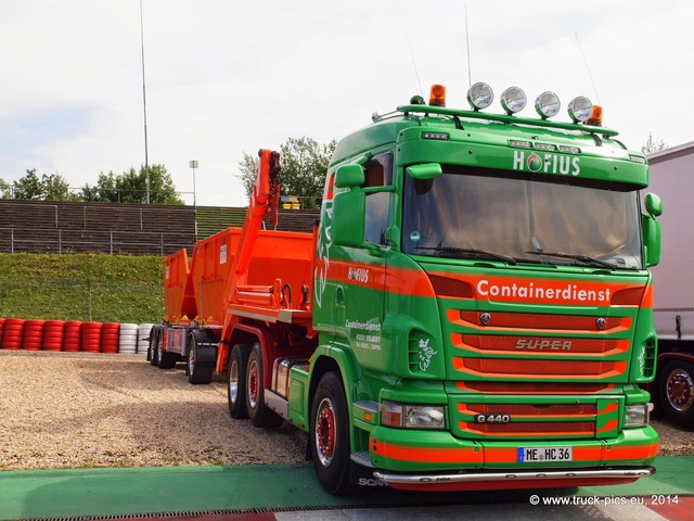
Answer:
<path fill-rule="evenodd" d="M 305 208 L 318 207 L 323 194 L 325 173 L 336 144 L 335 140 L 321 144 L 311 138 L 288 138 L 280 147 L 282 195 L 299 198 Z M 246 195 L 250 195 L 257 168 L 257 154 L 244 152 L 243 158 L 239 162 L 240 174 L 236 177 L 241 179 Z"/>

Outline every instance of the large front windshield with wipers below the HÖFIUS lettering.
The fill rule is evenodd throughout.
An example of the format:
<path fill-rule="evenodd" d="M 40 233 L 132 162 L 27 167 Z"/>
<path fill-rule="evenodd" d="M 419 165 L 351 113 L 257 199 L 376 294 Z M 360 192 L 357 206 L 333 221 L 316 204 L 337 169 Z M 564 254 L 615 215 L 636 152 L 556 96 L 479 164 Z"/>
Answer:
<path fill-rule="evenodd" d="M 642 268 L 633 187 L 450 165 L 404 177 L 404 253 Z"/>

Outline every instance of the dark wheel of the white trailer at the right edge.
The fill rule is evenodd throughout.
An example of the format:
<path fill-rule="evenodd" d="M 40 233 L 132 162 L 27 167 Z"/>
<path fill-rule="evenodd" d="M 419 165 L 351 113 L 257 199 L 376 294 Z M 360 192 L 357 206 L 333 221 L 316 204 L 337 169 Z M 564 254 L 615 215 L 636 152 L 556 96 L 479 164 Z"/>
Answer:
<path fill-rule="evenodd" d="M 670 421 L 694 428 L 694 364 L 684 360 L 665 364 L 658 378 L 658 393 Z"/>

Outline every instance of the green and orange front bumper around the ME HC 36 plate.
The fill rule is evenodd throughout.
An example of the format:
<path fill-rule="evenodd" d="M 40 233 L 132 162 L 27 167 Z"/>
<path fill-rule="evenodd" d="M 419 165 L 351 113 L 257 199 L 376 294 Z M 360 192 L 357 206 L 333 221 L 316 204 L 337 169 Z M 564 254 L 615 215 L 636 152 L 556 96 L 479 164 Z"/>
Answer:
<path fill-rule="evenodd" d="M 518 461 L 519 447 L 571 446 L 570 461 Z M 651 475 L 658 434 L 647 425 L 607 440 L 461 440 L 446 431 L 376 427 L 371 431 L 371 465 L 391 486 L 446 490 L 584 486 L 629 483 Z M 561 482 L 561 485 L 557 484 Z M 493 486 L 499 483 L 500 486 Z M 543 483 L 547 483 L 543 485 Z"/>

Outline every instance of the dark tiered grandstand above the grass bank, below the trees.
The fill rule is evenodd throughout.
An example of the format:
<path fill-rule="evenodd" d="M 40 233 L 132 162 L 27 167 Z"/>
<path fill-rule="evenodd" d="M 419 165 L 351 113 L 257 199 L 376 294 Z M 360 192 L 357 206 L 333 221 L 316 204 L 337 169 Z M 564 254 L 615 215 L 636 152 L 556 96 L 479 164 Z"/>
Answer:
<path fill-rule="evenodd" d="M 0 200 L 0 253 L 169 255 L 243 225 L 245 208 Z M 279 230 L 311 231 L 318 211 L 281 209 Z"/>

